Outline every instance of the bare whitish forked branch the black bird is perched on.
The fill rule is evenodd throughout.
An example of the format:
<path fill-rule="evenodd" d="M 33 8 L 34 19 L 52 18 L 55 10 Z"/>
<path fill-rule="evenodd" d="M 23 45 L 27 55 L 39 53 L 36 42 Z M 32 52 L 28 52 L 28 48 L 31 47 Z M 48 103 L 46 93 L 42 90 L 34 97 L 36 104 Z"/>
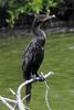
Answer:
<path fill-rule="evenodd" d="M 43 75 L 43 78 L 46 79 L 47 77 L 51 77 L 52 75 L 53 75 L 53 72 L 50 72 L 50 73 L 47 73 L 46 75 Z M 21 90 L 22 90 L 22 88 L 23 88 L 25 85 L 28 85 L 28 84 L 30 84 L 30 82 L 39 81 L 39 80 L 40 80 L 40 77 L 35 77 L 35 78 L 32 78 L 32 79 L 30 79 L 30 80 L 27 80 L 27 81 L 22 82 L 22 84 L 19 86 L 17 94 L 15 94 L 12 89 L 10 89 L 10 91 L 12 92 L 12 95 L 15 96 L 15 100 L 12 100 L 12 99 L 9 99 L 9 98 L 4 98 L 4 97 L 1 97 L 1 96 L 0 96 L 0 101 L 1 101 L 3 105 L 6 105 L 6 106 L 9 108 L 9 110 L 15 110 L 15 107 L 18 107 L 19 110 L 25 110 L 25 109 L 30 110 L 28 107 L 25 107 L 25 106 L 23 105 L 23 100 L 24 100 L 28 96 L 25 96 L 25 97 L 22 99 L 22 98 L 21 98 Z M 12 107 L 10 103 L 13 103 L 14 107 Z"/>

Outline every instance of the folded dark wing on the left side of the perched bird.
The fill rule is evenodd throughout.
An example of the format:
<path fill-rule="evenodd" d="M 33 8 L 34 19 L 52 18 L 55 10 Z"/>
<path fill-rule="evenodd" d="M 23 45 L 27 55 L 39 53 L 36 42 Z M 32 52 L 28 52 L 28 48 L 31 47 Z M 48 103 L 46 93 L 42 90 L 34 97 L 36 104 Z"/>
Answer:
<path fill-rule="evenodd" d="M 34 42 L 31 42 L 23 54 L 22 69 L 24 73 L 30 73 L 31 70 L 34 57 L 33 51 L 34 51 Z"/>

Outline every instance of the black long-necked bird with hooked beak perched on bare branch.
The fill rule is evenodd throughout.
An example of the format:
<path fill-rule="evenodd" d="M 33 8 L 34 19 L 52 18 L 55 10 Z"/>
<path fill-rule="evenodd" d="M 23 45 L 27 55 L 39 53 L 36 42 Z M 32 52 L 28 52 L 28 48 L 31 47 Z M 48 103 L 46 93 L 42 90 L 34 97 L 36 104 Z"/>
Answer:
<path fill-rule="evenodd" d="M 40 26 L 51 18 L 54 18 L 54 15 L 49 16 L 45 14 L 41 14 L 33 21 L 32 32 L 34 34 L 34 38 L 30 42 L 23 54 L 22 70 L 25 80 L 31 79 L 32 75 L 36 75 L 36 77 L 40 77 L 38 70 L 44 57 L 44 44 L 46 38 L 46 35 L 40 29 Z M 42 77 L 40 79 L 43 80 Z M 25 88 L 25 95 L 29 95 L 29 97 L 27 98 L 27 103 L 29 103 L 31 99 L 31 85 L 32 84 L 27 85 Z"/>

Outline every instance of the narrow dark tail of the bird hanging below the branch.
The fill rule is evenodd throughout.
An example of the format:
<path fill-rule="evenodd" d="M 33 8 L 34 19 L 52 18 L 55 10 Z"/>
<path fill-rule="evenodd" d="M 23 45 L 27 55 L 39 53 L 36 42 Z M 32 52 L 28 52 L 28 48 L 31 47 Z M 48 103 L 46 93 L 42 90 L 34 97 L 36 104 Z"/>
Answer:
<path fill-rule="evenodd" d="M 32 88 L 32 84 L 28 84 L 25 86 L 25 96 L 28 96 L 27 99 L 25 99 L 27 105 L 29 105 L 29 102 L 31 100 L 31 88 Z"/>

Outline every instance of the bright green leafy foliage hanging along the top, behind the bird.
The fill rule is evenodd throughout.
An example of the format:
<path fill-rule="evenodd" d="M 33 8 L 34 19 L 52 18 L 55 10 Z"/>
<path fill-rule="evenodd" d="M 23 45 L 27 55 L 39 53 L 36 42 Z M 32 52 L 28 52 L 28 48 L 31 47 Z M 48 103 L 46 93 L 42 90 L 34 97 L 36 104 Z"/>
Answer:
<path fill-rule="evenodd" d="M 1 7 L 8 7 L 9 18 L 7 22 L 13 28 L 20 13 L 36 15 L 45 8 L 45 13 L 50 13 L 50 7 L 55 7 L 54 0 L 0 0 Z"/>

